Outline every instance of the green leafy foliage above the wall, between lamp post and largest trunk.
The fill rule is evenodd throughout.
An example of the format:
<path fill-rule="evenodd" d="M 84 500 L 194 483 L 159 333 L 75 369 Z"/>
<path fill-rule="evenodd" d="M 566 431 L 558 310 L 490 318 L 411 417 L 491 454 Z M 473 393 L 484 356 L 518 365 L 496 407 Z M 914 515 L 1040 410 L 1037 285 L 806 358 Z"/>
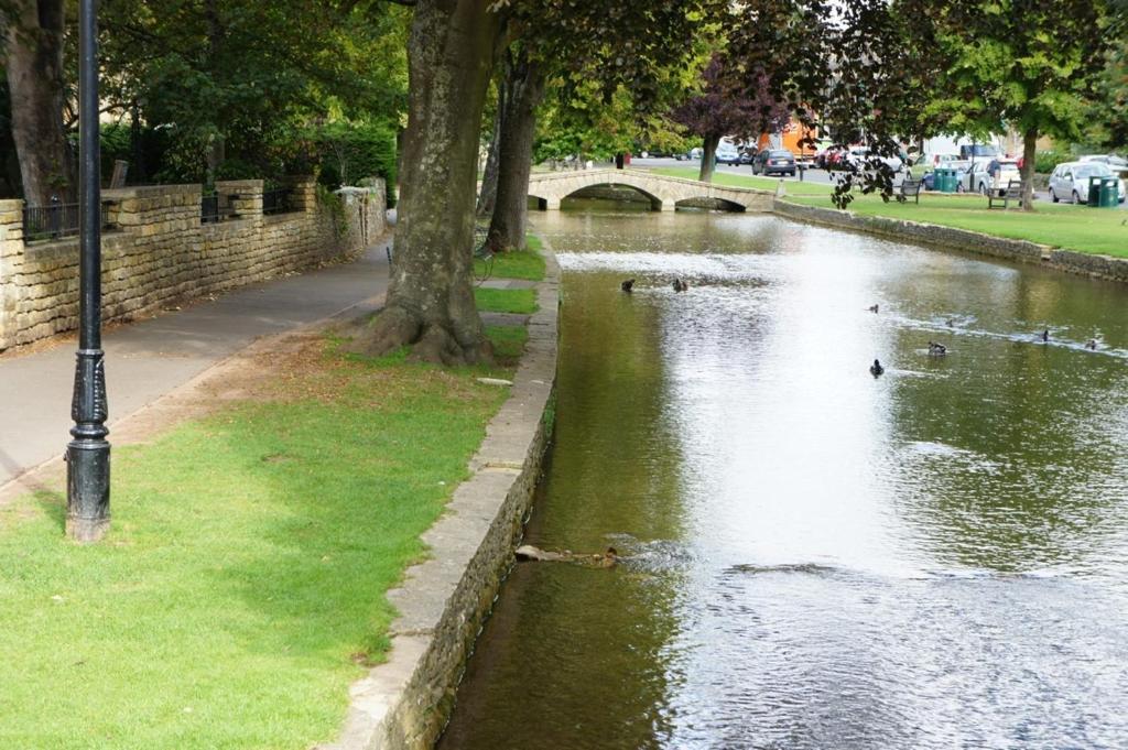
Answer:
<path fill-rule="evenodd" d="M 103 0 L 104 99 L 167 131 L 166 178 L 279 171 L 314 121 L 397 121 L 408 15 L 385 3 Z"/>

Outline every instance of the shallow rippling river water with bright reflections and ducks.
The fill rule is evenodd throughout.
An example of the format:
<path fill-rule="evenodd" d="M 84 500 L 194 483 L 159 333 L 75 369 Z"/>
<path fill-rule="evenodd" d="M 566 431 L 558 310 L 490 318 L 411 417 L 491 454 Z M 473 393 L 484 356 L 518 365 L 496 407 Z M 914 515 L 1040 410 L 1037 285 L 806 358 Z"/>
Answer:
<path fill-rule="evenodd" d="M 442 747 L 1128 747 L 1122 288 L 768 217 L 538 220 L 529 540 L 631 557 L 515 568 Z"/>

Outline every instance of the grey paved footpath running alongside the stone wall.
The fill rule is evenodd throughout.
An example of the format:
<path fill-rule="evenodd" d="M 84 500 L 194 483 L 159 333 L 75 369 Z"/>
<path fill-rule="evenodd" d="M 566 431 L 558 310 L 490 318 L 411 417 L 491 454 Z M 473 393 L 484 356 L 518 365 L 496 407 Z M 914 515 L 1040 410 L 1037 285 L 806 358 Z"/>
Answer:
<path fill-rule="evenodd" d="M 261 336 L 340 315 L 382 297 L 386 241 L 349 264 L 253 284 L 215 301 L 116 328 L 104 336 L 114 423 L 187 382 Z M 70 440 L 73 342 L 0 356 L 0 493 L 61 456 Z"/>

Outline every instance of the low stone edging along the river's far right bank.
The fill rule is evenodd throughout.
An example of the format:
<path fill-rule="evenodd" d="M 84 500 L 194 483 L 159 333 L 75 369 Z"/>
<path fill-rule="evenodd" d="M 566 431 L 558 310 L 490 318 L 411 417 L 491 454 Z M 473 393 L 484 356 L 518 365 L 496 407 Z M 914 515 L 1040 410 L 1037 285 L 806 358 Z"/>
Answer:
<path fill-rule="evenodd" d="M 995 237 L 967 229 L 941 227 L 925 222 L 887 219 L 884 217 L 860 217 L 848 211 L 802 205 L 778 198 L 775 202 L 775 213 L 802 221 L 855 229 L 928 245 L 941 245 L 1010 261 L 1036 263 L 1056 271 L 1065 271 L 1084 276 L 1128 282 L 1128 259 L 1114 258 L 1110 255 L 1056 249 L 1048 245 L 1039 245 L 1022 239 Z"/>

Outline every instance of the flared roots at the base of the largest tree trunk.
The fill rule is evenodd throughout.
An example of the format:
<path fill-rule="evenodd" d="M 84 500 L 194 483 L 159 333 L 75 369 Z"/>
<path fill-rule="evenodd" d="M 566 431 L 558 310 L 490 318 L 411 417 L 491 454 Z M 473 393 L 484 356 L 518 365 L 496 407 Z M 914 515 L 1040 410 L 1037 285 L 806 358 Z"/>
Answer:
<path fill-rule="evenodd" d="M 479 337 L 469 344 L 461 344 L 452 328 L 424 321 L 402 307 L 389 307 L 358 332 L 344 348 L 365 356 L 382 356 L 402 346 L 411 346 L 409 362 L 447 367 L 493 363 L 493 346 L 488 339 Z"/>

